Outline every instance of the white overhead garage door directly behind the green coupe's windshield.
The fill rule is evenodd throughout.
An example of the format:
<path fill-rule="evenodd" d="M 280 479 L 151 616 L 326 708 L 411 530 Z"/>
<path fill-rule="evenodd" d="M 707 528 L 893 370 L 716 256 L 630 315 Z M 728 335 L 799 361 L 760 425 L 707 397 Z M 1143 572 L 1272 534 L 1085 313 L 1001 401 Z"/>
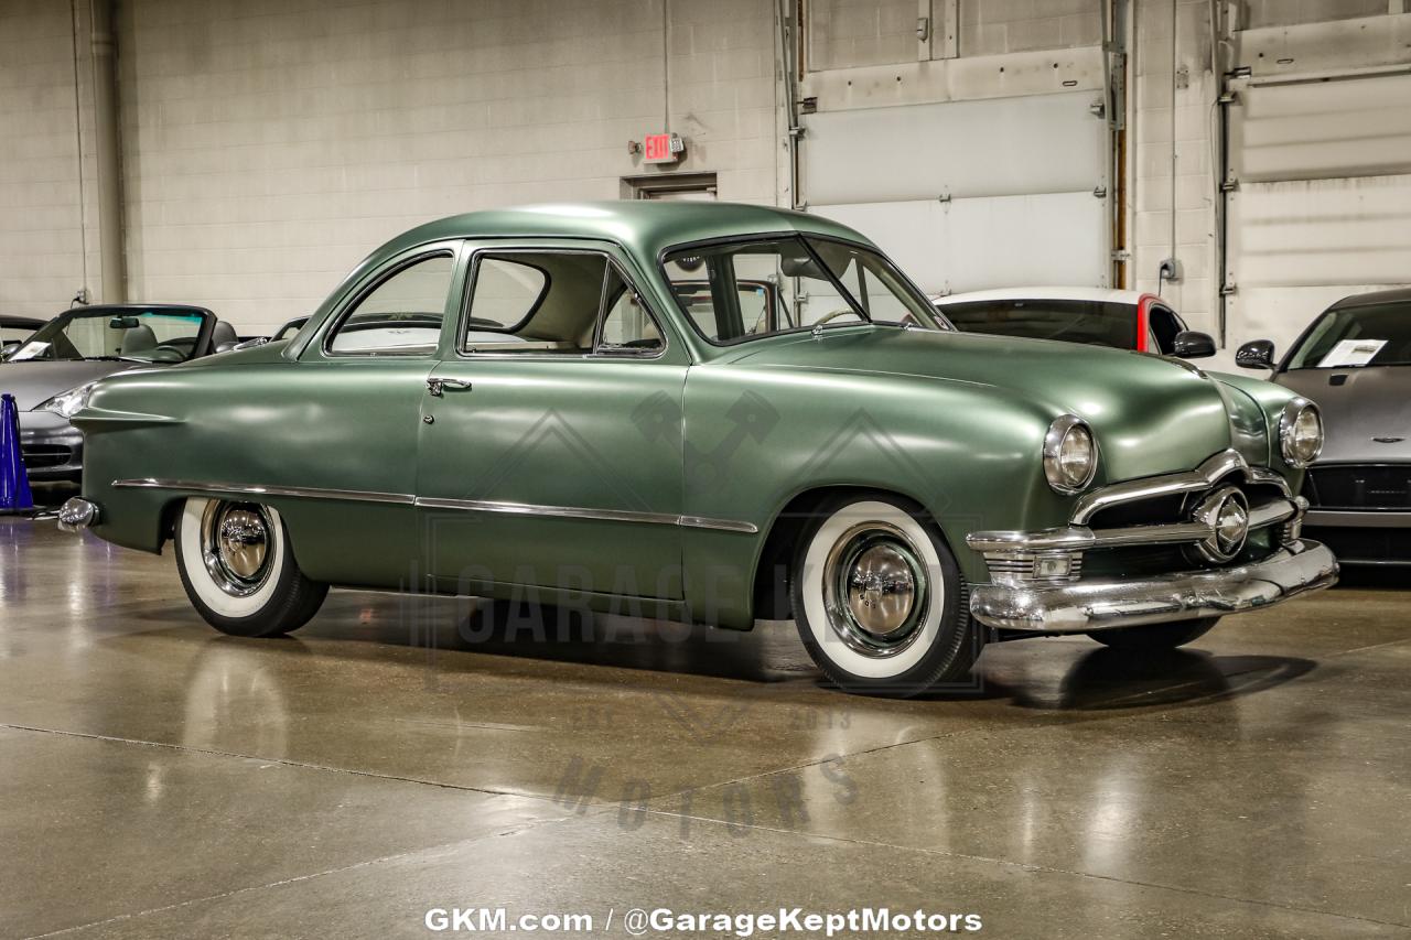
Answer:
<path fill-rule="evenodd" d="M 928 292 L 1109 277 L 1108 128 L 1096 90 L 803 119 L 810 212 L 849 224 Z"/>

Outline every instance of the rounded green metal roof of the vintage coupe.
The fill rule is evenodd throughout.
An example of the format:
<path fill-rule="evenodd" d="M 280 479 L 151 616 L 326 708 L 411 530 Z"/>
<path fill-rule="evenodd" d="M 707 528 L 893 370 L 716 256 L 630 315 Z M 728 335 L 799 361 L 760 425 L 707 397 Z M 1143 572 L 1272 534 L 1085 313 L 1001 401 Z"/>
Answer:
<path fill-rule="evenodd" d="M 803 231 L 872 246 L 852 229 L 806 212 L 734 202 L 564 202 L 491 209 L 429 222 L 388 241 L 381 258 L 429 241 L 449 239 L 594 239 L 617 241 L 656 257 L 663 248 L 691 241 Z"/>

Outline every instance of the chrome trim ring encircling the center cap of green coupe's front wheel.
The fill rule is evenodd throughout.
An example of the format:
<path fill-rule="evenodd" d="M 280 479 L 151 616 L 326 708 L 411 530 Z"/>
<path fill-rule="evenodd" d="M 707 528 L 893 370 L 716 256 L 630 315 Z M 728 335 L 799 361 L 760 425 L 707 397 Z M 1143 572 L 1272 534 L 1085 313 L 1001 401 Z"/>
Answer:
<path fill-rule="evenodd" d="M 858 622 L 848 604 L 847 582 L 856 560 L 871 548 L 893 549 L 909 569 L 913 597 L 903 622 L 886 634 L 875 634 Z M 909 649 L 924 632 L 930 608 L 930 579 L 921 553 L 899 528 L 880 519 L 851 526 L 828 550 L 823 570 L 823 607 L 828 627 L 849 649 L 872 659 L 888 659 Z"/>

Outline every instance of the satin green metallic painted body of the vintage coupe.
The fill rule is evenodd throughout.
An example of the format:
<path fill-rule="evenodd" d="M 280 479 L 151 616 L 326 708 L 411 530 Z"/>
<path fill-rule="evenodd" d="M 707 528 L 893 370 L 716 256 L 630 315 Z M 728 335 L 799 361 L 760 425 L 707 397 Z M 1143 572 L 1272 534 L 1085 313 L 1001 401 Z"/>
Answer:
<path fill-rule="evenodd" d="M 1040 463 L 1054 418 L 1094 429 L 1092 486 L 1189 470 L 1236 447 L 1268 466 L 1292 395 L 1189 364 L 1041 340 L 835 326 L 717 347 L 686 323 L 658 267 L 676 244 L 779 231 L 869 244 L 817 216 L 759 206 L 600 203 L 473 213 L 413 229 L 370 255 L 291 340 L 103 381 L 75 418 L 87 440 L 95 532 L 159 550 L 182 491 L 113 480 L 313 487 L 748 522 L 721 532 L 659 522 L 494 514 L 268 497 L 315 580 L 430 587 L 749 628 L 770 528 L 800 494 L 892 491 L 940 524 L 965 577 L 988 582 L 965 535 L 1068 521 L 1074 497 Z M 459 356 L 477 248 L 611 254 L 659 322 L 656 358 Z M 426 356 L 336 357 L 336 315 L 389 265 L 457 251 L 447 329 Z M 470 391 L 426 394 L 429 377 Z M 426 419 L 430 418 L 432 423 Z M 1274 466 L 1297 487 L 1298 474 Z"/>

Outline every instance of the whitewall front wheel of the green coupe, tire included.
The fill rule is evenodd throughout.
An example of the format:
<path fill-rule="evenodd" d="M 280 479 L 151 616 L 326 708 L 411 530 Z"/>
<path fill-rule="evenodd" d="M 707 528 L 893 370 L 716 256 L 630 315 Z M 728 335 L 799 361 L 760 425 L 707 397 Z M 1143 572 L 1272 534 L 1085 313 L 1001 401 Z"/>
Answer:
<path fill-rule="evenodd" d="M 847 692 L 972 687 L 983 645 L 940 529 L 888 494 L 818 510 L 794 558 L 793 608 L 809 655 Z"/>

